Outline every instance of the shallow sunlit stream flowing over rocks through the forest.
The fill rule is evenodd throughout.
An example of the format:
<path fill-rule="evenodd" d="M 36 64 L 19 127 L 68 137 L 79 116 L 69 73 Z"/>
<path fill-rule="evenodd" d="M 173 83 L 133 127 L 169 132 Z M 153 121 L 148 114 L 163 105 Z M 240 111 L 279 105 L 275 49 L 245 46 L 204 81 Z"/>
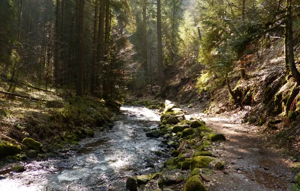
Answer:
<path fill-rule="evenodd" d="M 0 180 L 0 190 L 126 190 L 128 176 L 154 172 L 164 161 L 154 152 L 166 148 L 143 130 L 156 128 L 159 116 L 142 107 L 121 111 L 113 129 L 81 141 L 79 153 L 25 163 L 25 172 Z"/>

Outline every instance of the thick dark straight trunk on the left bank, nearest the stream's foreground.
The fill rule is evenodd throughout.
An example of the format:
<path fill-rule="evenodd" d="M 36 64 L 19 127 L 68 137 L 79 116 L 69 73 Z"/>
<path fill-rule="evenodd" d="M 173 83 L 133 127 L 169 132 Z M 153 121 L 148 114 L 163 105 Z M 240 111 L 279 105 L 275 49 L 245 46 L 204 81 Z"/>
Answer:
<path fill-rule="evenodd" d="M 77 80 L 76 80 L 76 96 L 83 97 L 83 78 L 84 78 L 84 24 L 85 24 L 85 0 L 79 3 L 79 21 L 78 21 L 78 55 L 77 55 Z"/>

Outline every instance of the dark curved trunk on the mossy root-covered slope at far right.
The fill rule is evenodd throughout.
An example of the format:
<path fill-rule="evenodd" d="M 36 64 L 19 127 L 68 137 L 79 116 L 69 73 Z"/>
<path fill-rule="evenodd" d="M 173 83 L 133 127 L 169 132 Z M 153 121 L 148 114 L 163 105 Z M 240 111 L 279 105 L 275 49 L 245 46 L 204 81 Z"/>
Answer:
<path fill-rule="evenodd" d="M 297 84 L 300 84 L 300 73 L 296 67 L 295 59 L 294 59 L 294 50 L 293 50 L 293 31 L 292 31 L 292 13 L 291 13 L 291 0 L 288 4 L 288 62 L 290 65 L 290 71 L 295 78 Z"/>

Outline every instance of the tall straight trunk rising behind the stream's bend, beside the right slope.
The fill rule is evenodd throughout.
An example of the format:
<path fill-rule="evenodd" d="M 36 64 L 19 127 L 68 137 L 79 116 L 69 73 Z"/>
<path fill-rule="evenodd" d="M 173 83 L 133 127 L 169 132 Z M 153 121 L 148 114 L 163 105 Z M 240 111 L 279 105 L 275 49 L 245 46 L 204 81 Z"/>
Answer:
<path fill-rule="evenodd" d="M 158 34 L 158 67 L 160 73 L 161 91 L 165 86 L 165 71 L 163 62 L 163 45 L 162 45 L 162 14 L 161 0 L 157 0 L 157 34 Z"/>

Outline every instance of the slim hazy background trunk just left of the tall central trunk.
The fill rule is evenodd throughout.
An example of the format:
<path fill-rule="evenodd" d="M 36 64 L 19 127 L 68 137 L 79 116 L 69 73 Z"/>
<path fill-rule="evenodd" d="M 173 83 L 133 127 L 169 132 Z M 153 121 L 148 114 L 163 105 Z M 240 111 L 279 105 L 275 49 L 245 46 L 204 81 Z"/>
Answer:
<path fill-rule="evenodd" d="M 143 70 L 144 70 L 144 78 L 145 84 L 148 83 L 148 62 L 147 62 L 147 0 L 143 0 L 142 4 L 142 17 L 143 17 L 143 29 L 142 29 L 142 37 L 143 37 Z"/>

